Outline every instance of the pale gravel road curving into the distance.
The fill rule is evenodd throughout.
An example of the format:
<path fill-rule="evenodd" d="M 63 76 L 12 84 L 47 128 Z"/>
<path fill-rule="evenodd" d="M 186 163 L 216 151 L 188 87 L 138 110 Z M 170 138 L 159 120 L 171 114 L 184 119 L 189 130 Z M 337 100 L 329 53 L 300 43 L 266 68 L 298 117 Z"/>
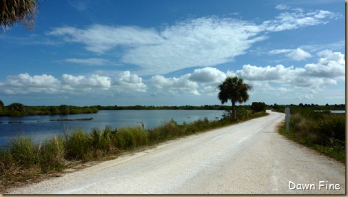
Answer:
<path fill-rule="evenodd" d="M 280 136 L 285 115 L 269 114 L 9 194 L 345 194 L 345 165 Z"/>

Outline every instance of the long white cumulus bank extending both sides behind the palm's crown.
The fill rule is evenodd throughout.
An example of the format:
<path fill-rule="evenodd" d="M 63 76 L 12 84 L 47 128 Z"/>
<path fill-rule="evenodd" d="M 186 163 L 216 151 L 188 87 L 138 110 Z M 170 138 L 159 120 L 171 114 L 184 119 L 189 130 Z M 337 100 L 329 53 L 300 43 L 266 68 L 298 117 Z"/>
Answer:
<path fill-rule="evenodd" d="M 307 63 L 302 68 L 285 65 L 243 65 L 236 71 L 222 72 L 217 68 L 198 68 L 192 73 L 179 77 L 152 76 L 150 83 L 157 92 L 173 94 L 205 94 L 216 95 L 216 86 L 225 80 L 226 76 L 238 76 L 246 83 L 255 85 L 254 92 L 298 92 L 307 90 L 316 92 L 327 85 L 336 85 L 345 81 L 344 54 L 324 50 L 318 53 L 317 63 Z"/>

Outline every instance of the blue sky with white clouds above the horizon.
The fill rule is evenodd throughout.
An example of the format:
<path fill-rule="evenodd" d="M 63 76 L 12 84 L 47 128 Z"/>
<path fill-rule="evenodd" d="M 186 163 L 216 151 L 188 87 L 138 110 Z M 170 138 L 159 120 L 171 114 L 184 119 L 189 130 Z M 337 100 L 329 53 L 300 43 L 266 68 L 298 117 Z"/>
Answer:
<path fill-rule="evenodd" d="M 220 105 L 227 76 L 245 104 L 341 104 L 345 1 L 41 1 L 0 58 L 5 105 Z"/>

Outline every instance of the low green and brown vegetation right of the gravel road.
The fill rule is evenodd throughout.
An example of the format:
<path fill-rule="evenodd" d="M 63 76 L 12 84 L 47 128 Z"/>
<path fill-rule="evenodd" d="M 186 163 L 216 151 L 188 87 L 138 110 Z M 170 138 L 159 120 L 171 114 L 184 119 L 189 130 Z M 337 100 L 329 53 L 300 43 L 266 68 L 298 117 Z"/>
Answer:
<path fill-rule="evenodd" d="M 345 163 L 345 114 L 290 107 L 289 134 L 283 122 L 280 134 Z"/>

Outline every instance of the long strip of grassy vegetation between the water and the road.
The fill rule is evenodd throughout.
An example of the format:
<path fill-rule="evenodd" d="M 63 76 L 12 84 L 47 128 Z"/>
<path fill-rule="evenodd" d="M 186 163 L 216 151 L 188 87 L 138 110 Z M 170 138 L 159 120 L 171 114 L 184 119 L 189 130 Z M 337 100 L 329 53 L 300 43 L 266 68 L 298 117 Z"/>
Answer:
<path fill-rule="evenodd" d="M 41 143 L 34 143 L 30 137 L 17 136 L 0 152 L 0 191 L 12 187 L 14 183 L 25 183 L 42 174 L 61 172 L 78 163 L 115 158 L 125 151 L 267 115 L 265 112 L 250 112 L 243 107 L 237 112 L 239 118 L 235 122 L 227 115 L 220 120 L 204 118 L 182 125 L 172 119 L 147 130 L 140 126 L 117 129 L 110 125 L 103 129 L 94 127 L 90 132 L 64 129 L 63 136 L 54 136 Z"/>

